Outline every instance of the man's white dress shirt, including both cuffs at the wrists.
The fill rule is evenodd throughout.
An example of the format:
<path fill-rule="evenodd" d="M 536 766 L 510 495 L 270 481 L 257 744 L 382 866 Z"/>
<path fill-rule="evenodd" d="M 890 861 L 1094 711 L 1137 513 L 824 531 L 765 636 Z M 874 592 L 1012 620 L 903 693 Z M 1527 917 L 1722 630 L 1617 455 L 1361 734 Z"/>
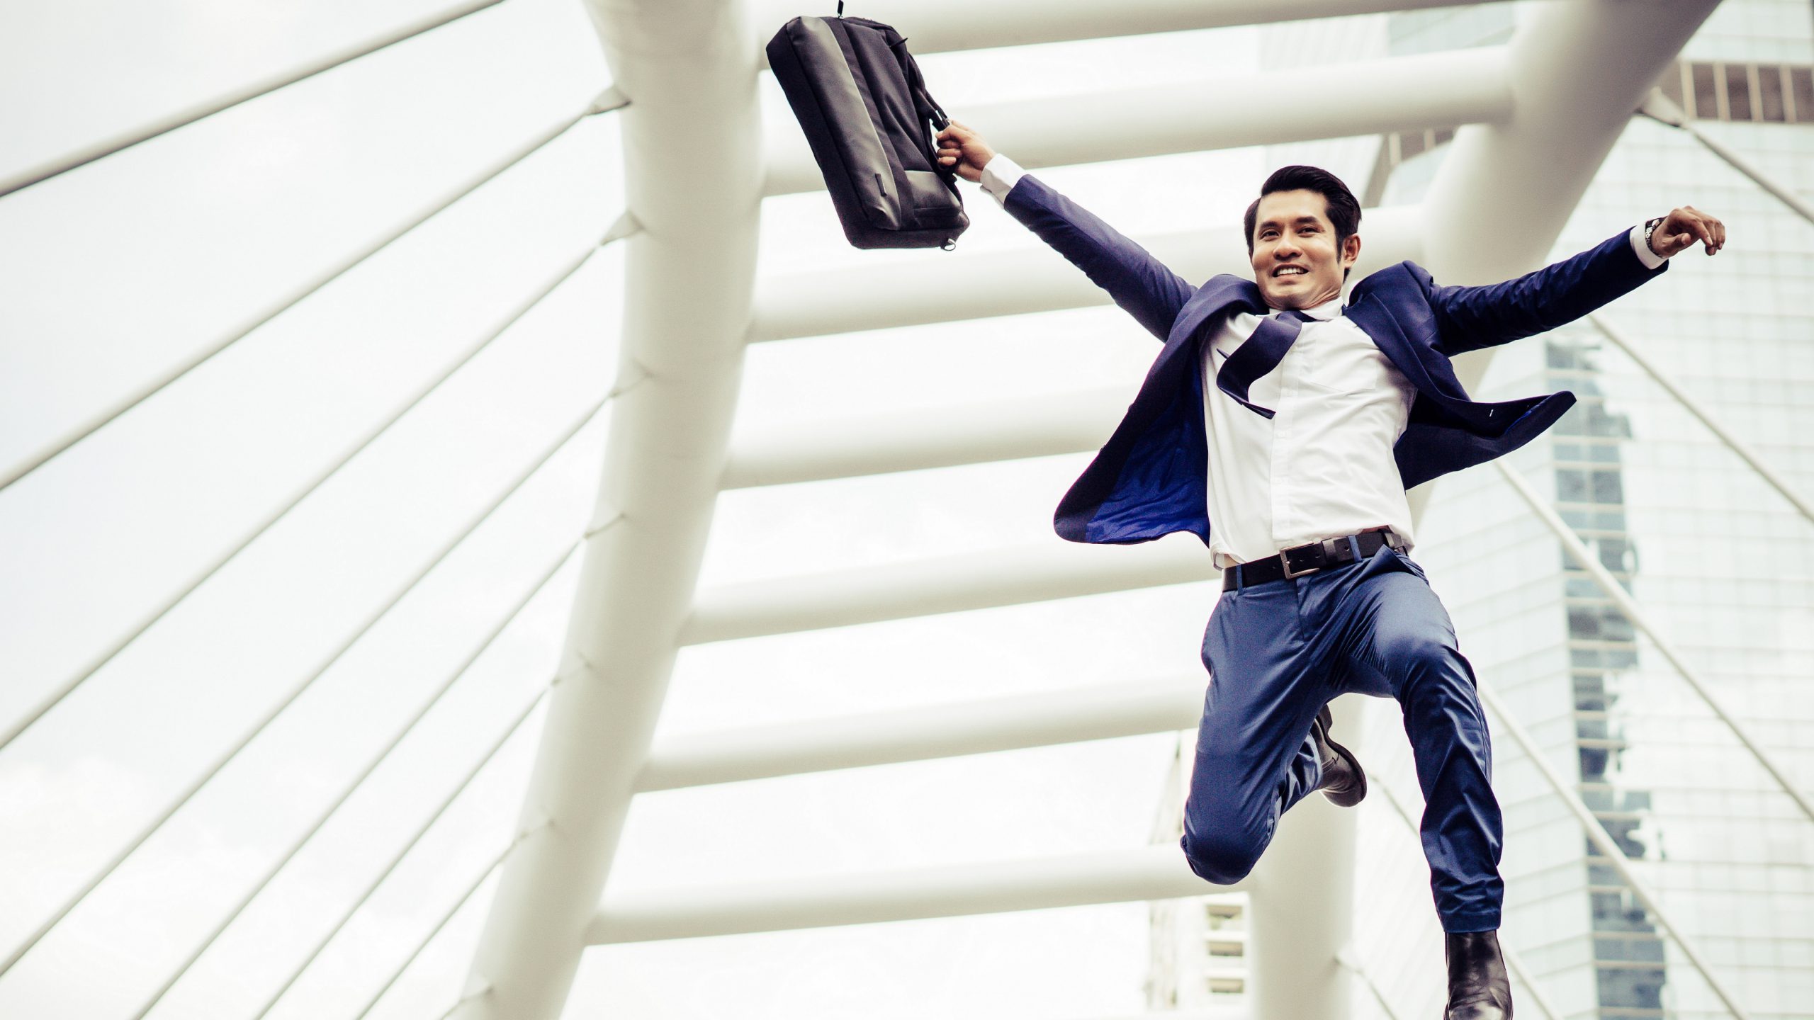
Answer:
<path fill-rule="evenodd" d="M 983 167 L 983 191 L 1007 203 L 1025 174 L 1007 156 Z M 1633 252 L 1656 269 L 1662 258 L 1633 227 Z M 1279 367 L 1253 381 L 1248 399 L 1277 412 L 1253 414 L 1215 388 L 1215 372 L 1259 327 L 1237 312 L 1203 345 L 1203 425 L 1210 448 L 1206 497 L 1215 566 L 1252 563 L 1279 550 L 1390 526 L 1411 535 L 1411 506 L 1391 448 L 1404 434 L 1417 388 L 1335 298 L 1304 309 L 1297 341 Z"/>

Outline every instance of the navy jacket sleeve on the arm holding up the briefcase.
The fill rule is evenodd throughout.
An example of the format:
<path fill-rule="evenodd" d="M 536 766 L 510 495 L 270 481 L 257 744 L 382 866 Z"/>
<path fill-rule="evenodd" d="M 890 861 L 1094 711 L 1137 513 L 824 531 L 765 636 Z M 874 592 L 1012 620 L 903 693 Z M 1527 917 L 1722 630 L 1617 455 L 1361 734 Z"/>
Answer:
<path fill-rule="evenodd" d="M 1001 205 L 1159 339 L 1195 292 L 1146 249 L 1032 174 L 1021 176 Z"/>

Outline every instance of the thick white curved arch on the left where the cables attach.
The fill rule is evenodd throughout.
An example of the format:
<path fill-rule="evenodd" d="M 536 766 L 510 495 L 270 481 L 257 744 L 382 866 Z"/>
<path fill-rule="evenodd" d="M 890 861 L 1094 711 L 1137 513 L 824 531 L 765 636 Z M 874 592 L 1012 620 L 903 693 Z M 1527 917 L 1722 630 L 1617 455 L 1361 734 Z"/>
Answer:
<path fill-rule="evenodd" d="M 553 1020 L 648 757 L 711 526 L 762 207 L 756 45 L 738 0 L 588 0 L 617 87 L 622 372 L 559 682 L 454 1015 Z M 615 525 L 608 525 L 615 521 Z M 541 824 L 546 820 L 546 824 Z"/>

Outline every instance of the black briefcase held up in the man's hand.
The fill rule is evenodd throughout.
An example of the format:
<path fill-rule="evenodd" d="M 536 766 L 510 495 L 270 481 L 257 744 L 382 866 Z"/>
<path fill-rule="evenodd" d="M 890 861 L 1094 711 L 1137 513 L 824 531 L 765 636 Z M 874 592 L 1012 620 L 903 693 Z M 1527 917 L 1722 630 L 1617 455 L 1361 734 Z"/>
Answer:
<path fill-rule="evenodd" d="M 949 120 L 905 42 L 867 18 L 795 18 L 767 45 L 844 236 L 860 249 L 949 249 L 970 225 L 932 143 Z"/>

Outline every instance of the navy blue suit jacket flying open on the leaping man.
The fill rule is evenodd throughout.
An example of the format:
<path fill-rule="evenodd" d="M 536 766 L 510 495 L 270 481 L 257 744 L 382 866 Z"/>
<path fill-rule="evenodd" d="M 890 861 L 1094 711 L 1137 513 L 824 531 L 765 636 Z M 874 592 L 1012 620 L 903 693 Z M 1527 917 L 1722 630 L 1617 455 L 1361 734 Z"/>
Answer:
<path fill-rule="evenodd" d="M 1076 543 L 1145 543 L 1194 532 L 1208 543 L 1201 345 L 1224 316 L 1266 314 L 1259 287 L 1226 274 L 1192 287 L 1030 174 L 1005 205 L 1165 341 L 1121 425 L 1059 501 L 1058 534 Z M 1669 263 L 1645 269 L 1622 230 L 1593 250 L 1491 287 L 1437 287 L 1411 261 L 1357 283 L 1342 314 L 1417 387 L 1409 425 L 1393 446 L 1404 486 L 1509 454 L 1575 403 L 1571 392 L 1471 401 L 1449 358 L 1556 329 L 1663 269 Z"/>

